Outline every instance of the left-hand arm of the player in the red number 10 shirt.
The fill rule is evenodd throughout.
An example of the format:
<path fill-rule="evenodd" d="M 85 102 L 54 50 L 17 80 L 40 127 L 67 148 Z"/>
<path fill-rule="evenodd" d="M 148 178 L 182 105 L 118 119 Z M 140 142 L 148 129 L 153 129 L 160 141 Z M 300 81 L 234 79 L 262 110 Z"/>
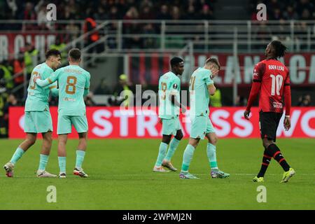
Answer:
<path fill-rule="evenodd" d="M 246 111 L 244 111 L 244 117 L 246 119 L 248 119 L 249 113 L 251 113 L 251 106 L 253 106 L 253 102 L 257 98 L 260 91 L 262 73 L 263 73 L 262 66 L 265 66 L 265 64 L 256 65 L 253 71 L 253 83 L 251 84 L 251 92 L 248 97 Z"/>

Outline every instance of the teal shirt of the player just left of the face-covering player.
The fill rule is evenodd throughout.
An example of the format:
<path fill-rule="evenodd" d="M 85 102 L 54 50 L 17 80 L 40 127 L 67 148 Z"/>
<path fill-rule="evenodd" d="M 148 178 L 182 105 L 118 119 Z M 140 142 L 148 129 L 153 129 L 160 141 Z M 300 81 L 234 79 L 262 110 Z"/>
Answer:
<path fill-rule="evenodd" d="M 159 118 L 171 119 L 179 115 L 179 107 L 172 104 L 170 95 L 180 102 L 181 80 L 172 71 L 159 80 Z"/>

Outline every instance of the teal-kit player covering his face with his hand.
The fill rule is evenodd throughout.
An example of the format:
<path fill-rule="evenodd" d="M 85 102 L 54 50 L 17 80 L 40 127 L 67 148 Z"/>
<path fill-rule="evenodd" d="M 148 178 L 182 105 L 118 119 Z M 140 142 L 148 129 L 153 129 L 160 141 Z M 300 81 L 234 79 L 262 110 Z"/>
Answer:
<path fill-rule="evenodd" d="M 207 156 L 211 167 L 212 178 L 226 178 L 230 176 L 220 169 L 216 162 L 216 142 L 218 137 L 209 118 L 209 94 L 216 92 L 213 78 L 220 70 L 220 64 L 217 59 L 209 58 L 203 68 L 194 71 L 190 78 L 190 120 L 191 130 L 190 139 L 183 153 L 183 165 L 179 177 L 181 179 L 198 179 L 188 172 L 189 165 L 193 159 L 195 148 L 200 139 L 207 137 Z"/>

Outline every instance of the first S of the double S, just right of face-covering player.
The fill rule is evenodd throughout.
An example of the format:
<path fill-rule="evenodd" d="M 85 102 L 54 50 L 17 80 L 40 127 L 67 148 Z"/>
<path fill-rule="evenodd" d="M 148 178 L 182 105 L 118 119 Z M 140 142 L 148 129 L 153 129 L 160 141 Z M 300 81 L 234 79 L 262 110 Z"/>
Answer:
<path fill-rule="evenodd" d="M 223 109 L 218 109 L 216 111 L 211 112 L 211 122 L 212 124 L 215 124 L 218 127 L 221 127 L 221 129 L 216 129 L 216 134 L 218 137 L 225 137 L 228 134 L 230 134 L 231 131 L 231 125 L 228 123 L 228 121 L 223 120 L 221 118 L 227 119 L 230 116 L 230 113 L 228 111 L 225 111 Z"/>

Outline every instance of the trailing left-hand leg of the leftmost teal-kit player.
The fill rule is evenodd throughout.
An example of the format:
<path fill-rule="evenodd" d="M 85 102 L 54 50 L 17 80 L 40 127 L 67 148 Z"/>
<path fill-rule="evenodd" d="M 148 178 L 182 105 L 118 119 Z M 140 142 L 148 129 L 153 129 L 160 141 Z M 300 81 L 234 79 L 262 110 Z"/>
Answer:
<path fill-rule="evenodd" d="M 36 136 L 36 133 L 27 133 L 25 140 L 22 142 L 22 144 L 20 144 L 20 146 L 18 146 L 18 148 L 16 148 L 15 153 L 13 154 L 10 161 L 3 166 L 3 168 L 6 170 L 6 176 L 13 177 L 15 163 L 18 162 L 18 160 L 22 158 L 22 155 L 35 144 Z"/>

